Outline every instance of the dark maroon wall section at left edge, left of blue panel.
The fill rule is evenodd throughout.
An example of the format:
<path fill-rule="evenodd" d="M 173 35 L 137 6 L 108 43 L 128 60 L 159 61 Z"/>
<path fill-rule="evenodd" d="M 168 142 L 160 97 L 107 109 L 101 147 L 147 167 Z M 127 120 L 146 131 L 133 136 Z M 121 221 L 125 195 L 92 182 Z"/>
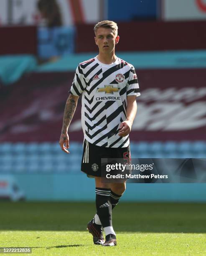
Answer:
<path fill-rule="evenodd" d="M 0 54 L 37 54 L 35 26 L 0 27 Z"/>

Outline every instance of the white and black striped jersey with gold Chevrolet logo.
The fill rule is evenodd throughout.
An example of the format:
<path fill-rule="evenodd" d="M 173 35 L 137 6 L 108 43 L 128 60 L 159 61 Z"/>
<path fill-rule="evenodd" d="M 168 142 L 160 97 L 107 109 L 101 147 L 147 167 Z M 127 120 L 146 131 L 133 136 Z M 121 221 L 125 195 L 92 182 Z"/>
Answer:
<path fill-rule="evenodd" d="M 118 136 L 118 130 L 127 118 L 127 96 L 140 95 L 131 64 L 120 58 L 108 65 L 97 57 L 84 61 L 76 68 L 69 92 L 82 94 L 81 125 L 87 141 L 112 148 L 129 145 L 129 136 Z"/>

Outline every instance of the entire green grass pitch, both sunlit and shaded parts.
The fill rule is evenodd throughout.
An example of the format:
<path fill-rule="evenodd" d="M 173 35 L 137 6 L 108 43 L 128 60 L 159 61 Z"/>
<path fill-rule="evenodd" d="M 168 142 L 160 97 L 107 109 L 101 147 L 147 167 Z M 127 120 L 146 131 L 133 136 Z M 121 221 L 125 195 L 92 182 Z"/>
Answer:
<path fill-rule="evenodd" d="M 0 247 L 31 247 L 28 255 L 206 255 L 206 204 L 120 202 L 111 248 L 95 246 L 86 230 L 94 213 L 91 202 L 0 202 Z"/>

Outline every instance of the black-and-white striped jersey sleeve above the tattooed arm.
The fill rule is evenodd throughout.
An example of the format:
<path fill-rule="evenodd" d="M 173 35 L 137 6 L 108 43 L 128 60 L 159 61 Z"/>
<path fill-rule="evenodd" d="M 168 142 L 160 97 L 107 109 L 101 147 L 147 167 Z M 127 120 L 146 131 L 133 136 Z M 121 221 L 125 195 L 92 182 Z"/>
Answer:
<path fill-rule="evenodd" d="M 76 68 L 74 80 L 71 84 L 71 88 L 70 88 L 69 92 L 75 96 L 80 96 L 85 88 L 86 88 L 86 82 L 84 79 L 84 73 L 79 65 Z"/>

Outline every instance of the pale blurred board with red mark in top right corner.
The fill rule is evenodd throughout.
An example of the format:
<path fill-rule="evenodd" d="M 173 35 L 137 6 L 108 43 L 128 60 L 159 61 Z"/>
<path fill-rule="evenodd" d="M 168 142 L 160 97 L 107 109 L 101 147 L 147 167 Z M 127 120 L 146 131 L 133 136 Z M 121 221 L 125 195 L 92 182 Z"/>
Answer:
<path fill-rule="evenodd" d="M 206 19 L 206 0 L 162 0 L 163 20 Z"/>

